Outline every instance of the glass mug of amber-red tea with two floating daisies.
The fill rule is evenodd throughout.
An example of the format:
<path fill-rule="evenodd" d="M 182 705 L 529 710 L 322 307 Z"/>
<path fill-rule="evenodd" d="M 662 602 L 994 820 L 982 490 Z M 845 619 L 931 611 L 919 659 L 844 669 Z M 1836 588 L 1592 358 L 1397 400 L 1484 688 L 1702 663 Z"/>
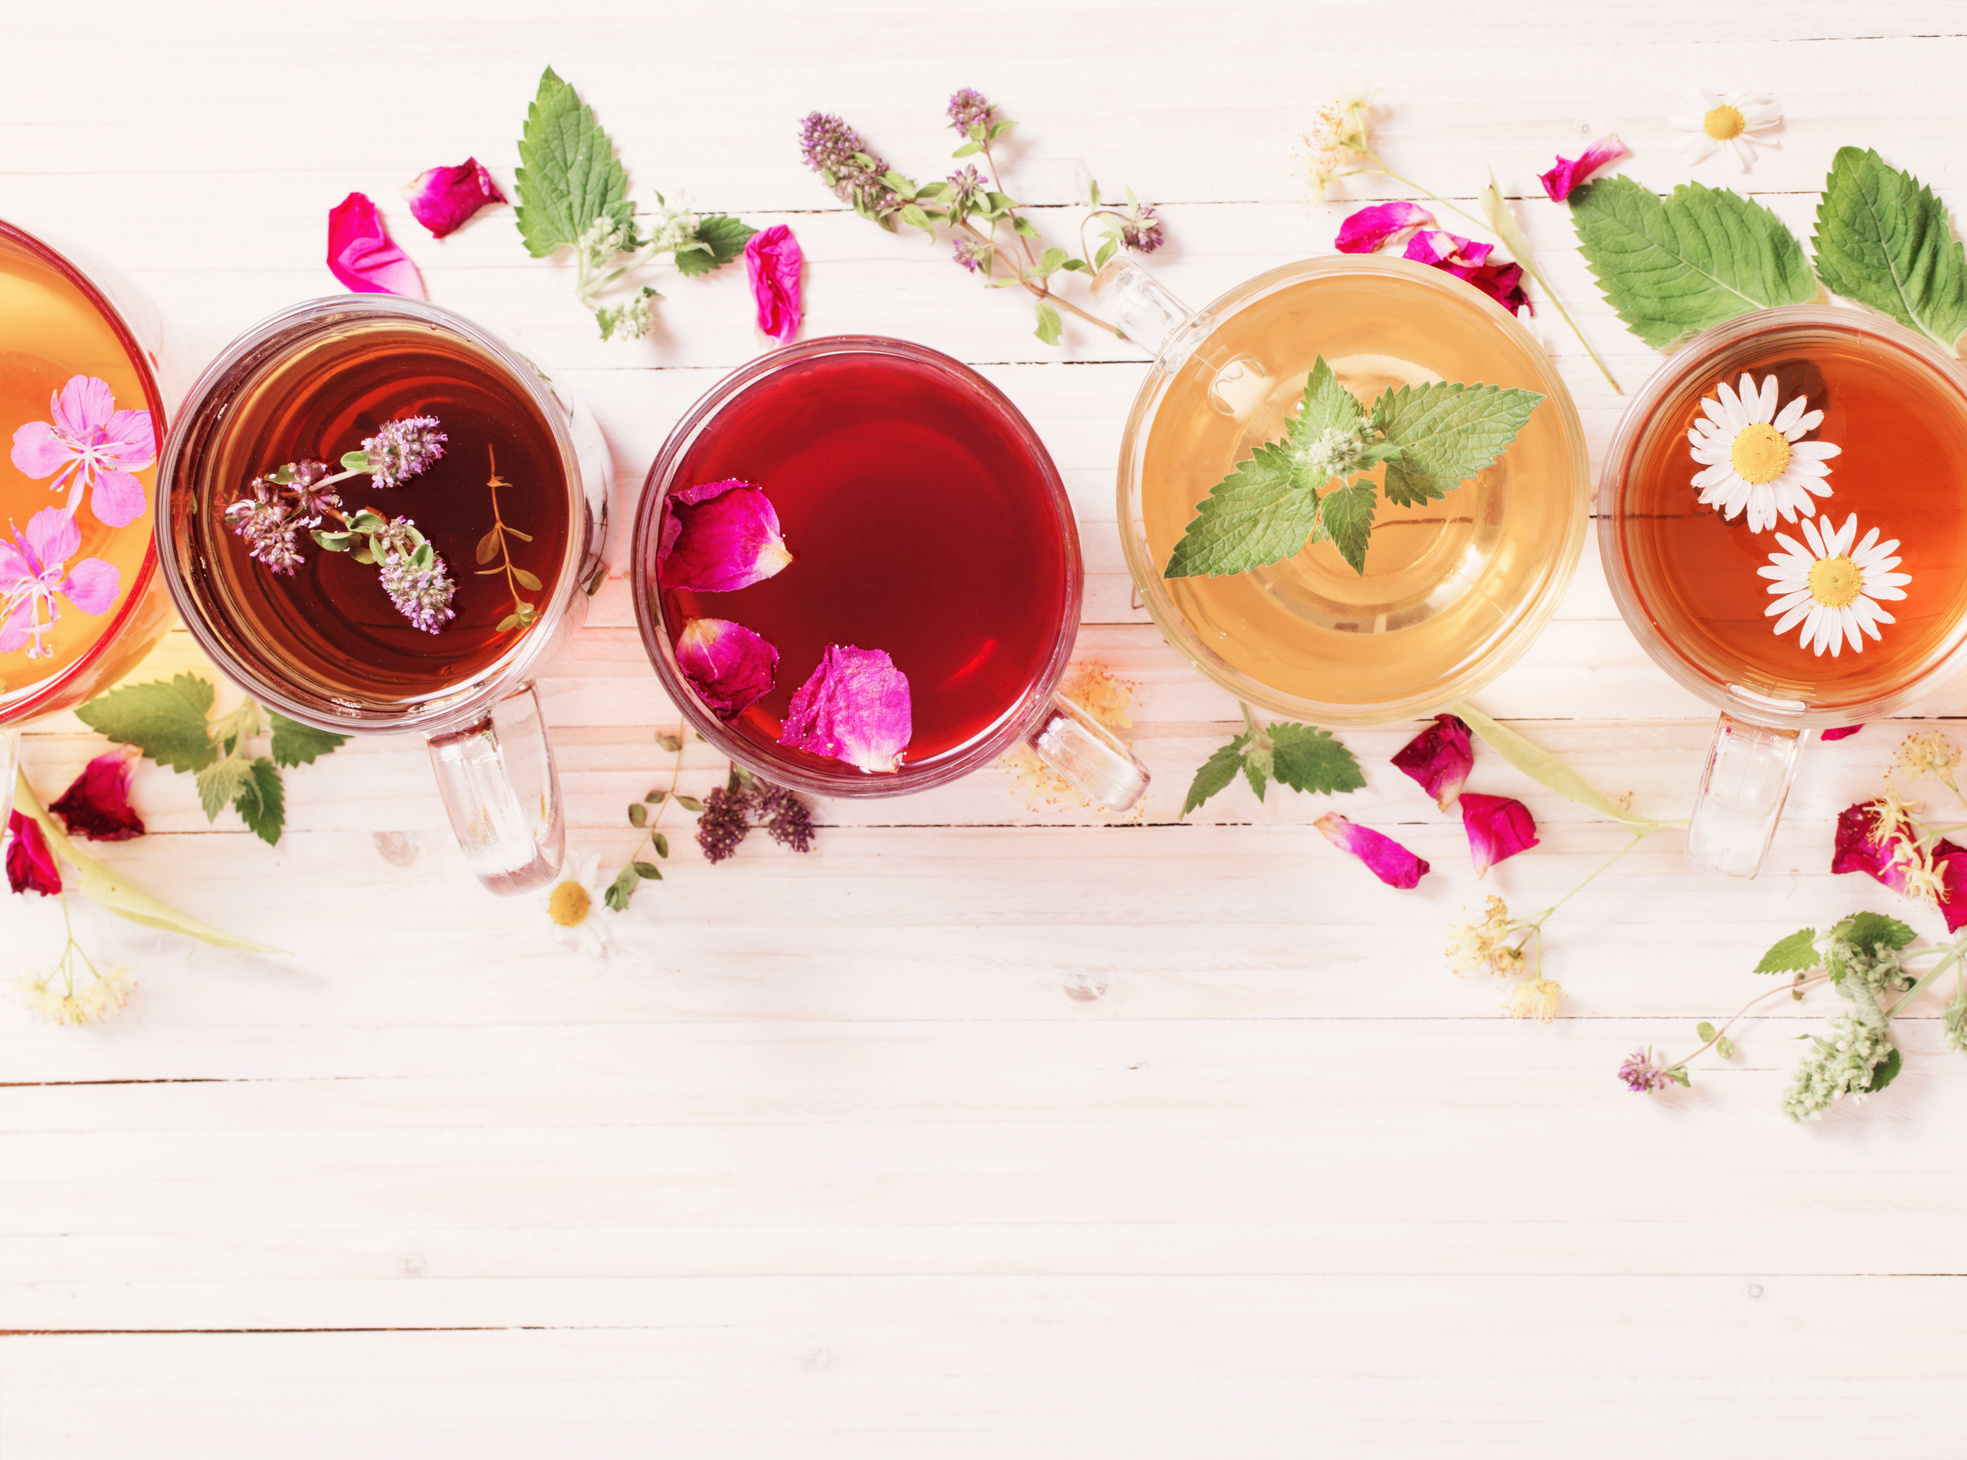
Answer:
<path fill-rule="evenodd" d="M 1729 419 L 1729 399 L 1749 405 L 1745 374 L 1753 409 Z M 1690 441 L 1703 421 L 1717 472 L 1751 498 L 1733 517 L 1692 486 L 1709 466 Z M 1837 455 L 1796 449 L 1808 441 Z M 1829 494 L 1788 492 L 1790 516 L 1755 521 L 1755 490 L 1774 500 L 1796 476 Z M 1701 872 L 1760 872 L 1808 730 L 1888 718 L 1967 665 L 1967 372 L 1880 315 L 1792 305 L 1694 336 L 1619 421 L 1597 514 L 1627 626 L 1721 710 L 1688 822 Z M 1861 600 L 1890 620 L 1847 628 L 1845 610 L 1873 616 Z"/>

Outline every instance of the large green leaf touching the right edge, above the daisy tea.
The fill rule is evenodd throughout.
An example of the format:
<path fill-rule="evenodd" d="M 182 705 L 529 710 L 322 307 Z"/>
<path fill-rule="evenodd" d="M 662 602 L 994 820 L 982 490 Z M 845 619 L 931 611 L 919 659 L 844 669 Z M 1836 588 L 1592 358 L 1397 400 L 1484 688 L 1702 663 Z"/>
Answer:
<path fill-rule="evenodd" d="M 1967 333 L 1967 256 L 1947 207 L 1877 152 L 1839 148 L 1810 238 L 1823 287 L 1951 350 Z"/>

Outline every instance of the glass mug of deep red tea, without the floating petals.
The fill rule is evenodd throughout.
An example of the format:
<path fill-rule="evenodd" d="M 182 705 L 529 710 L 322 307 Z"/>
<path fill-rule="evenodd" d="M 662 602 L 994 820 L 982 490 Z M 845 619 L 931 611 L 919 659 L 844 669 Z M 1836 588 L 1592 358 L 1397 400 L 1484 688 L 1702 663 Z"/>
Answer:
<path fill-rule="evenodd" d="M 665 588 L 675 490 L 738 478 L 779 516 L 793 561 L 732 592 Z M 724 756 L 814 795 L 885 797 L 968 775 L 1023 742 L 1094 805 L 1127 811 L 1147 771 L 1058 695 L 1080 622 L 1072 504 L 1031 423 L 968 366 L 905 340 L 836 335 L 734 370 L 663 443 L 635 510 L 635 622 L 669 699 Z M 677 665 L 692 618 L 779 651 L 773 689 L 732 720 Z M 826 645 L 887 651 L 913 738 L 893 771 L 779 744 Z"/>

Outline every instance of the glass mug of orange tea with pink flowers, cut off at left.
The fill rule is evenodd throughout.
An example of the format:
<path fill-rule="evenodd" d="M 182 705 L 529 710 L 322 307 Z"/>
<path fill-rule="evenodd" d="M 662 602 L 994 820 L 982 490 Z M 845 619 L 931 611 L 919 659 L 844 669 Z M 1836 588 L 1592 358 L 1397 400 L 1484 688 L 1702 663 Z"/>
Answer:
<path fill-rule="evenodd" d="M 189 376 L 149 295 L 0 220 L 0 828 L 20 726 L 100 695 L 171 626 L 146 478 Z"/>

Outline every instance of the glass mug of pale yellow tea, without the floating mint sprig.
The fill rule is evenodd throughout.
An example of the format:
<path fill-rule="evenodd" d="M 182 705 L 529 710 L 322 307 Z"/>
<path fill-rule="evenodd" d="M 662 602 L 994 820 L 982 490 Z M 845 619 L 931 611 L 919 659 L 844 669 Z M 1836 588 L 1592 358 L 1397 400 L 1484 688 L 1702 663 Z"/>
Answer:
<path fill-rule="evenodd" d="M 1259 274 L 1202 311 L 1127 258 L 1092 283 L 1155 364 L 1119 451 L 1119 531 L 1162 636 L 1239 700 L 1324 726 L 1428 716 L 1513 665 L 1583 547 L 1589 462 L 1544 348 L 1471 285 L 1397 258 Z M 1220 578 L 1164 578 L 1194 506 L 1275 441 L 1326 364 L 1363 401 L 1436 380 L 1546 399 L 1509 451 L 1440 502 L 1379 502 L 1365 575 L 1332 543 Z"/>

